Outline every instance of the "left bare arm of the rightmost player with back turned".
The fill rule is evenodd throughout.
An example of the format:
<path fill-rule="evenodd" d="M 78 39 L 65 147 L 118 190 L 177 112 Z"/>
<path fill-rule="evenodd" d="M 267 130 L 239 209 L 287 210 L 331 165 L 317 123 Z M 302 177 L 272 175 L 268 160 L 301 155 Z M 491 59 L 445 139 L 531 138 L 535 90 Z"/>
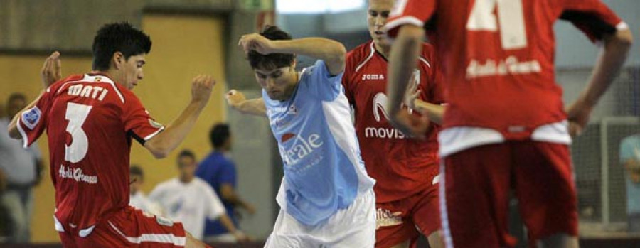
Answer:
<path fill-rule="evenodd" d="M 417 137 L 424 135 L 428 120 L 402 111 L 401 106 L 415 63 L 420 56 L 422 37 L 424 36 L 425 31 L 419 26 L 402 26 L 398 31 L 398 37 L 391 46 L 388 68 L 387 94 L 389 102 L 387 107 L 390 119 L 394 126 L 403 133 Z"/>

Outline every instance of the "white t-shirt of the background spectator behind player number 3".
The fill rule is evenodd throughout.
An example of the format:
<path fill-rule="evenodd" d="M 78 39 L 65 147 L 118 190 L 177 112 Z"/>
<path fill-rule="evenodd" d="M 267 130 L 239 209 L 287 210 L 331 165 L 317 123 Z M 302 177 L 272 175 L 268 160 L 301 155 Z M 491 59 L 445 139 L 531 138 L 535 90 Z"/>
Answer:
<path fill-rule="evenodd" d="M 200 178 L 183 183 L 178 178 L 167 180 L 151 191 L 149 200 L 159 203 L 165 217 L 182 222 L 184 229 L 197 239 L 203 238 L 205 220 L 225 214 L 225 207 L 213 188 Z"/>

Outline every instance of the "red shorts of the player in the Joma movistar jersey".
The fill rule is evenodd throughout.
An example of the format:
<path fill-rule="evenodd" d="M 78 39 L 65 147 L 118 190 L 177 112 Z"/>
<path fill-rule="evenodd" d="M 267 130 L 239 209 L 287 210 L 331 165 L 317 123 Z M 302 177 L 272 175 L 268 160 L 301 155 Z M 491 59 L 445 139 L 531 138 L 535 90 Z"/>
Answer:
<path fill-rule="evenodd" d="M 407 240 L 415 243 L 420 234 L 429 237 L 440 229 L 437 175 L 434 184 L 408 198 L 375 203 L 375 247 L 393 247 Z M 435 178 L 435 180 L 434 180 Z"/>

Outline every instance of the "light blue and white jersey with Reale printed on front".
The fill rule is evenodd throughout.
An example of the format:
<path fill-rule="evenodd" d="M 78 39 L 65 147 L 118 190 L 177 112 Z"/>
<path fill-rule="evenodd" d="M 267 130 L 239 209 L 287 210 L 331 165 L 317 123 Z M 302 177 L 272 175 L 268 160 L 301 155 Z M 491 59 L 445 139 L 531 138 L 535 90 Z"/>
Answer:
<path fill-rule="evenodd" d="M 318 60 L 302 70 L 287 101 L 272 100 L 262 90 L 284 162 L 277 201 L 304 225 L 328 219 L 375 184 L 360 157 L 341 79 Z"/>

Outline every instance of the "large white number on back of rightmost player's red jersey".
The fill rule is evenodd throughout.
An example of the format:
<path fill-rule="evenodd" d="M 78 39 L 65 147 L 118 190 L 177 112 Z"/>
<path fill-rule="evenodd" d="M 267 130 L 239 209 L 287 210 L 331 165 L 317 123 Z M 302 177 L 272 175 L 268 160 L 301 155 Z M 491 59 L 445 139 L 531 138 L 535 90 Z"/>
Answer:
<path fill-rule="evenodd" d="M 497 11 L 498 18 L 494 14 Z M 500 26 L 498 30 L 498 25 Z M 500 40 L 504 50 L 525 48 L 527 33 L 523 14 L 522 0 L 476 0 L 469 20 L 466 22 L 469 31 L 500 32 Z"/>

